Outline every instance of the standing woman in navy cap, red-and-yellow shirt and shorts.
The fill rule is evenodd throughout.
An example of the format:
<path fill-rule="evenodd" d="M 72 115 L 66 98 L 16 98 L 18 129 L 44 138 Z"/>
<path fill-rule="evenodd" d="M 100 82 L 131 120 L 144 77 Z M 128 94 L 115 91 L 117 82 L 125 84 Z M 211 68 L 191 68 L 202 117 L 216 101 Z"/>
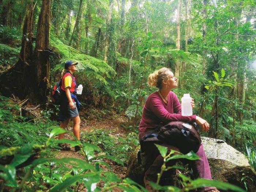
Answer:
<path fill-rule="evenodd" d="M 74 63 L 73 61 L 65 62 L 65 70 L 62 79 L 61 79 L 61 90 L 63 93 L 61 94 L 61 103 L 60 103 L 60 112 L 59 112 L 59 121 L 60 127 L 65 129 L 68 125 L 70 119 L 74 122 L 73 125 L 73 133 L 75 137 L 79 140 L 79 132 L 80 132 L 80 117 L 78 110 L 80 110 L 80 103 L 76 98 L 76 80 L 73 77 L 73 73 L 77 70 L 76 65 L 78 63 Z M 64 138 L 64 133 L 59 134 L 59 139 Z M 59 144 L 59 146 L 68 151 L 71 148 L 67 143 Z M 75 151 L 79 151 L 80 147 L 75 146 Z"/>

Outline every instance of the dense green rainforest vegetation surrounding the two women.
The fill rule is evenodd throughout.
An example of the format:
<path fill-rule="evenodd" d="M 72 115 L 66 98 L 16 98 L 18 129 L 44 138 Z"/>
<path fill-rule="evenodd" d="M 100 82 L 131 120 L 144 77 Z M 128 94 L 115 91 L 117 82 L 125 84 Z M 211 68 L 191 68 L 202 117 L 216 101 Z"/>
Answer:
<path fill-rule="evenodd" d="M 0 191 L 146 191 L 124 178 L 125 167 L 157 90 L 148 75 L 162 67 L 178 78 L 178 99 L 190 93 L 193 113 L 209 122 L 200 135 L 224 140 L 256 170 L 255 8 L 255 0 L 0 0 Z M 67 60 L 78 62 L 83 85 L 80 141 L 70 127 L 57 140 L 64 130 L 50 97 Z M 82 150 L 64 153 L 60 142 Z M 183 189 L 154 188 L 207 183 L 180 177 Z M 209 184 L 244 191 L 241 182 Z"/>

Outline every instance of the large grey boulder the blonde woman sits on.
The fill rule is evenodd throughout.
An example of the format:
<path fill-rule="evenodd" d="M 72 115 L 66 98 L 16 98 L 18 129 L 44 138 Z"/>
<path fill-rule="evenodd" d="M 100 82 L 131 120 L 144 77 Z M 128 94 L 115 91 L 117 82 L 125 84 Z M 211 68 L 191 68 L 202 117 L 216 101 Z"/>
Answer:
<path fill-rule="evenodd" d="M 206 137 L 201 139 L 211 168 L 212 179 L 244 188 L 241 178 L 245 174 L 248 192 L 256 192 L 256 172 L 249 165 L 245 155 L 223 140 Z M 143 177 L 149 165 L 144 154 L 138 153 L 139 151 L 140 146 L 133 151 L 128 162 L 126 177 L 143 184 Z"/>

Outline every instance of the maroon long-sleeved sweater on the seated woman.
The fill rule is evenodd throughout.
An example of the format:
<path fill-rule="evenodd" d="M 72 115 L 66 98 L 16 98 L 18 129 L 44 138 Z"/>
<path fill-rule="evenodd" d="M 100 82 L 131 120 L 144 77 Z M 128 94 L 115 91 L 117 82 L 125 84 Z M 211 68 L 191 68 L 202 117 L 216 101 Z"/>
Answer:
<path fill-rule="evenodd" d="M 168 103 L 166 104 L 157 91 L 148 96 L 140 120 L 139 140 L 147 133 L 152 132 L 159 124 L 164 125 L 171 121 L 191 123 L 196 121 L 196 115 L 181 115 L 181 104 L 175 93 L 170 91 L 167 97 Z"/>

